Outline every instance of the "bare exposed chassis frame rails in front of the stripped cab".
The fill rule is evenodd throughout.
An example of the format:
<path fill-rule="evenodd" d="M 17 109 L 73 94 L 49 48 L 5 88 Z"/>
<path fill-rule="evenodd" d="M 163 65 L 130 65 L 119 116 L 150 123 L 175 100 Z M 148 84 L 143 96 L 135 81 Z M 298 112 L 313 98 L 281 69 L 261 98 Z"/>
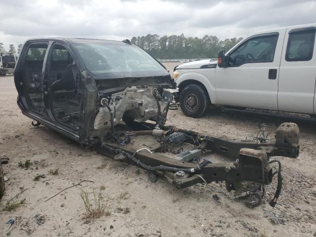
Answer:
<path fill-rule="evenodd" d="M 154 129 L 155 126 L 151 123 L 143 123 L 143 125 L 143 128 L 147 128 L 147 130 Z M 141 130 L 144 130 L 143 128 L 141 128 Z M 169 158 L 159 152 L 153 154 L 146 151 L 136 152 L 136 150 L 118 145 L 110 140 L 101 140 L 101 144 L 95 145 L 94 149 L 99 153 L 112 158 L 121 154 L 123 155 L 121 160 L 134 165 L 139 165 L 141 168 L 164 176 L 171 180 L 178 188 L 186 188 L 197 183 L 225 181 L 226 189 L 228 191 L 235 190 L 241 193 L 243 187 L 242 184 L 245 181 L 255 183 L 261 190 L 261 187 L 269 185 L 272 182 L 273 176 L 277 174 L 278 187 L 274 199 L 270 202 L 272 206 L 276 204 L 280 194 L 282 180 L 279 161 L 270 161 L 270 157 L 283 156 L 297 158 L 299 155 L 299 129 L 295 123 L 281 124 L 276 130 L 275 143 L 267 142 L 265 139 L 259 142 L 259 139 L 254 141 L 237 141 L 227 138 L 215 138 L 170 126 L 162 126 L 161 129 L 167 132 L 163 137 L 174 132 L 185 133 L 188 137 L 193 138 L 187 142 L 197 145 L 197 149 L 201 149 L 202 152 L 211 150 L 212 152 L 222 154 L 227 158 L 233 158 L 235 159 L 235 162 L 212 163 L 209 159 L 202 159 L 203 161 L 197 164 Z M 128 132 L 128 134 L 131 133 L 132 132 Z M 139 131 L 138 133 L 141 134 Z M 125 135 L 126 134 L 127 133 L 125 133 Z M 140 145 L 139 148 L 142 148 L 142 146 Z M 155 150 L 161 150 L 161 147 Z M 273 172 L 273 169 L 270 166 L 271 162 L 279 163 L 278 171 Z M 201 167 L 201 165 L 203 167 Z M 163 167 L 165 166 L 170 167 L 170 169 L 164 169 Z M 181 177 L 177 175 L 177 171 L 180 169 L 185 169 L 185 174 L 181 175 Z M 245 196 L 252 194 L 257 194 L 258 196 L 260 190 L 250 189 L 242 191 Z"/>

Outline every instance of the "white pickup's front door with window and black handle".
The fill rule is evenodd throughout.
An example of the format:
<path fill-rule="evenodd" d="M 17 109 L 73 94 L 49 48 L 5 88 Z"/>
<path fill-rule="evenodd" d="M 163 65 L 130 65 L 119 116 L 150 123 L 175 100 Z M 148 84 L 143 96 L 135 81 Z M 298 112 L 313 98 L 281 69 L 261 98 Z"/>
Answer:
<path fill-rule="evenodd" d="M 277 110 L 285 30 L 253 35 L 229 52 L 228 67 L 217 67 L 215 71 L 216 95 L 221 105 Z"/>

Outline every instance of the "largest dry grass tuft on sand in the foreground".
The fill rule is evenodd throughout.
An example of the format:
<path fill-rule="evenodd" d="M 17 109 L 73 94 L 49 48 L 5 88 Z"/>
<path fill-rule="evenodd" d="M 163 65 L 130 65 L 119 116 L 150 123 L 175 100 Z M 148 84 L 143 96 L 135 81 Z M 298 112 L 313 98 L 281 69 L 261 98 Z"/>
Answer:
<path fill-rule="evenodd" d="M 98 194 L 96 194 L 93 189 L 94 205 L 92 205 L 87 191 L 81 190 L 80 197 L 83 200 L 83 204 L 84 204 L 85 210 L 87 212 L 86 214 L 88 217 L 99 218 L 103 215 L 109 216 L 111 214 L 109 211 L 106 210 L 109 204 L 109 198 L 107 200 L 104 200 L 101 190 Z"/>

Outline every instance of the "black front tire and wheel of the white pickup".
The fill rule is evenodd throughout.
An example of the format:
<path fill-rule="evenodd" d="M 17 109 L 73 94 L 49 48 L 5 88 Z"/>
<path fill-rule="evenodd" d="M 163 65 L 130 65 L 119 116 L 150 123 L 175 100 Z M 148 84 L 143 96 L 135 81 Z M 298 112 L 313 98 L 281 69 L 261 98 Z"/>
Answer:
<path fill-rule="evenodd" d="M 201 117 L 210 106 L 207 92 L 196 84 L 187 85 L 182 89 L 179 102 L 182 112 L 193 118 Z"/>

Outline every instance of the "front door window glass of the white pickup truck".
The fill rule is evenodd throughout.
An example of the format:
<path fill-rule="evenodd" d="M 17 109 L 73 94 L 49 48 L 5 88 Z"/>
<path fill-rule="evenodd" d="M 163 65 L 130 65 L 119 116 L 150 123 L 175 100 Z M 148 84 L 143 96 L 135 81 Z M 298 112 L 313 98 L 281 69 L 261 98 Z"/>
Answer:
<path fill-rule="evenodd" d="M 273 62 L 278 34 L 252 37 L 239 45 L 229 56 L 229 66 L 245 63 Z"/>

